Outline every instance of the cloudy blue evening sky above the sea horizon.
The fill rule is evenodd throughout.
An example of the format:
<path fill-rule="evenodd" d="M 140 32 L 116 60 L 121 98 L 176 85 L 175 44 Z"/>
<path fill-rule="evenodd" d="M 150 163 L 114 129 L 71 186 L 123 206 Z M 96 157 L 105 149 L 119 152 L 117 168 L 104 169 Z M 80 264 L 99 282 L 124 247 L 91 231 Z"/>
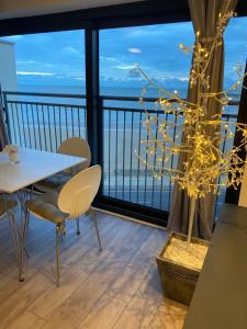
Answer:
<path fill-rule="evenodd" d="M 85 86 L 85 34 L 67 31 L 4 37 L 14 42 L 20 84 Z M 187 88 L 191 56 L 179 44 L 193 45 L 191 22 L 110 29 L 100 32 L 101 87 L 138 87 L 137 64 L 165 88 Z M 225 82 L 247 58 L 247 18 L 232 19 L 225 32 Z"/>

